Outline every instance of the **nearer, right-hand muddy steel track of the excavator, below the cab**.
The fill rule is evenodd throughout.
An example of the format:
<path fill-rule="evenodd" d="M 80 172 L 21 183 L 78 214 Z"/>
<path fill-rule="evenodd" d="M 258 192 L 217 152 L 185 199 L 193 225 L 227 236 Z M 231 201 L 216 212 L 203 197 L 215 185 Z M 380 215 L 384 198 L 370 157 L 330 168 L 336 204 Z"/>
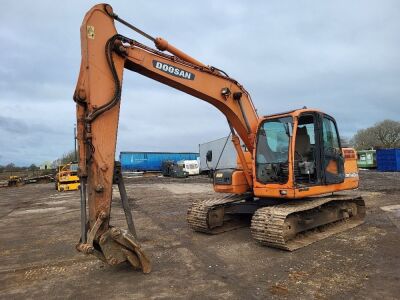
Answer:
<path fill-rule="evenodd" d="M 323 213 L 332 222 L 326 223 L 329 218 Z M 293 251 L 358 226 L 364 218 L 361 196 L 349 193 L 315 197 L 258 209 L 251 221 L 251 232 L 263 245 Z"/>

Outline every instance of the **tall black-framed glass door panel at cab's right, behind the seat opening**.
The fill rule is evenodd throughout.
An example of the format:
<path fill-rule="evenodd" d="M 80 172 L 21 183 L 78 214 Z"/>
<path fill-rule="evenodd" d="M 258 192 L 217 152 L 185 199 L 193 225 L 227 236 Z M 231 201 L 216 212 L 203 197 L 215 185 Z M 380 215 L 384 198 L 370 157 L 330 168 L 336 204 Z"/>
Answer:
<path fill-rule="evenodd" d="M 325 184 L 342 183 L 345 178 L 344 158 L 335 120 L 323 114 L 321 116 L 321 163 Z"/>

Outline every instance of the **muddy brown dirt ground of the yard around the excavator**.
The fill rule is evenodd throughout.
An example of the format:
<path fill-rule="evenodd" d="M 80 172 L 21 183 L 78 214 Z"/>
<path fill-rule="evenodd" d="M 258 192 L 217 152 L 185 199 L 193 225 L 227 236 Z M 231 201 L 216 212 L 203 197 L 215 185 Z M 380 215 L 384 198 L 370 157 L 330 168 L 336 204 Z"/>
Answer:
<path fill-rule="evenodd" d="M 0 298 L 398 299 L 400 173 L 361 172 L 363 225 L 295 252 L 258 245 L 249 228 L 222 235 L 186 225 L 208 178 L 128 178 L 136 229 L 153 271 L 111 267 L 75 250 L 79 193 L 53 184 L 0 189 Z M 112 220 L 125 227 L 115 190 Z"/>

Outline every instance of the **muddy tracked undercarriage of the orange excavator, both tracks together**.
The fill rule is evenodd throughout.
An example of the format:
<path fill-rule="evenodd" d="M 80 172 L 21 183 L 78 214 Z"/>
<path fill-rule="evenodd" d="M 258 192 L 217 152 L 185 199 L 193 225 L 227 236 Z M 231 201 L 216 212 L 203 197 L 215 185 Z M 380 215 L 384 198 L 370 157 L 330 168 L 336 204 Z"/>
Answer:
<path fill-rule="evenodd" d="M 193 203 L 187 221 L 195 231 L 218 234 L 248 225 L 262 245 L 293 251 L 364 222 L 365 203 L 353 192 L 283 202 L 233 195 Z"/>

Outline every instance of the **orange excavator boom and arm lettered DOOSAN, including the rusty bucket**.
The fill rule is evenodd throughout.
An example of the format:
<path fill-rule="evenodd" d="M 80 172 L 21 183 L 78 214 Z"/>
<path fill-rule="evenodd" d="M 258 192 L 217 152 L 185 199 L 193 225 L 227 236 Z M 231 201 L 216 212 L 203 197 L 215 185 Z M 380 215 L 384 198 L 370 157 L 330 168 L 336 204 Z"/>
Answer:
<path fill-rule="evenodd" d="M 118 34 L 115 21 L 152 40 L 158 50 Z M 133 230 L 125 231 L 109 224 L 113 182 L 118 183 L 127 207 L 122 176 L 118 170 L 115 172 L 114 162 L 123 70 L 129 69 L 181 90 L 220 110 L 227 118 L 249 187 L 253 184 L 252 170 L 246 163 L 239 137 L 253 153 L 259 118 L 250 95 L 236 80 L 205 66 L 167 41 L 140 31 L 119 18 L 107 4 L 96 5 L 86 14 L 81 26 L 81 52 L 74 93 L 82 220 L 77 249 L 111 265 L 129 261 L 134 267 L 149 272 L 150 262 Z"/>

